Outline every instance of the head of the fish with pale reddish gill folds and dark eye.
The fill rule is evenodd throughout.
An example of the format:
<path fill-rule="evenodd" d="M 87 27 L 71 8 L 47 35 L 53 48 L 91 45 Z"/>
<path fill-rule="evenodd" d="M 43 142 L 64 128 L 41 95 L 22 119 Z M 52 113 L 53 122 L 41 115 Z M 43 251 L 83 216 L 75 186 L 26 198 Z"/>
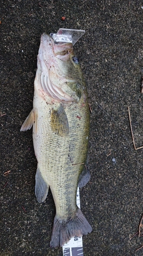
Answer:
<path fill-rule="evenodd" d="M 48 34 L 42 34 L 35 86 L 41 87 L 50 102 L 80 100 L 84 79 L 71 43 L 55 43 Z"/>

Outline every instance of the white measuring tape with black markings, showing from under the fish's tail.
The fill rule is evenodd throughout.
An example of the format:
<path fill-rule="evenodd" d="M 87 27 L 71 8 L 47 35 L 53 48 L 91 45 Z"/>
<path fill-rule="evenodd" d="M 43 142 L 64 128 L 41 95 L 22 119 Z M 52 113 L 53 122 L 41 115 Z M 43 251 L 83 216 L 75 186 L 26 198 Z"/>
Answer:
<path fill-rule="evenodd" d="M 77 188 L 76 204 L 80 208 L 79 187 Z M 63 245 L 63 256 L 83 256 L 82 237 L 72 237 Z"/>

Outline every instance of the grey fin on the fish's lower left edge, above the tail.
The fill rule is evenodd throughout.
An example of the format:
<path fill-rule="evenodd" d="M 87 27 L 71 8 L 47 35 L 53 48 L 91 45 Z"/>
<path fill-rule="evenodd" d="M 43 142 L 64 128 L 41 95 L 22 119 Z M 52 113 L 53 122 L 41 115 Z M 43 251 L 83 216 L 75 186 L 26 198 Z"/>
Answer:
<path fill-rule="evenodd" d="M 41 175 L 41 171 L 39 170 L 39 167 L 36 171 L 35 176 L 35 195 L 39 203 L 42 203 L 45 201 L 46 196 L 48 194 L 49 186 L 46 184 L 45 180 L 43 180 L 43 177 Z"/>

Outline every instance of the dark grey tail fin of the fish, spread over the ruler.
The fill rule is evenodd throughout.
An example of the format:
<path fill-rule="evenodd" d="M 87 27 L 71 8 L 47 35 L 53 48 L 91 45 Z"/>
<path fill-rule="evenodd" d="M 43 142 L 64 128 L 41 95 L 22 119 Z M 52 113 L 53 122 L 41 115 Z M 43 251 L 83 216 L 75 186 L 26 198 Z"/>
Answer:
<path fill-rule="evenodd" d="M 52 227 L 51 247 L 63 246 L 71 237 L 81 237 L 83 234 L 91 233 L 92 227 L 78 208 L 74 217 L 62 220 L 55 216 Z"/>

